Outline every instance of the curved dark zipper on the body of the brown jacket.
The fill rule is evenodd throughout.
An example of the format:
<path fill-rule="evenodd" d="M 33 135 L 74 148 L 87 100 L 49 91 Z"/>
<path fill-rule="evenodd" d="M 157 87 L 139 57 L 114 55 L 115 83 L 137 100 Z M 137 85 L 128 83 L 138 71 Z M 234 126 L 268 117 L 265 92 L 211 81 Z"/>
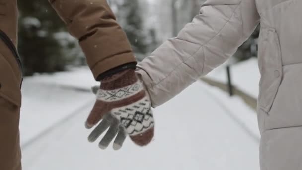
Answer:
<path fill-rule="evenodd" d="M 15 45 L 13 44 L 13 42 L 11 41 L 11 39 L 5 34 L 4 31 L 2 31 L 0 29 L 0 39 L 2 39 L 2 41 L 7 45 L 7 47 L 10 49 L 10 51 L 12 52 L 12 54 L 14 55 L 20 71 L 21 71 L 21 83 L 20 83 L 20 88 L 22 86 L 22 82 L 23 82 L 23 66 L 22 66 L 22 62 L 18 53 L 18 50 L 16 49 Z"/>

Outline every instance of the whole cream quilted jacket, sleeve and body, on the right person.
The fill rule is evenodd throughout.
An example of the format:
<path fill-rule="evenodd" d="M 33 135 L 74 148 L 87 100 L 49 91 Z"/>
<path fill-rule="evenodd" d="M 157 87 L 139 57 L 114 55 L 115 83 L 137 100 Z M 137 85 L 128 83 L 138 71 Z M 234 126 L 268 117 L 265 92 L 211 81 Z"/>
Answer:
<path fill-rule="evenodd" d="M 302 0 L 207 0 L 137 73 L 159 106 L 224 63 L 259 23 L 260 167 L 302 170 Z"/>

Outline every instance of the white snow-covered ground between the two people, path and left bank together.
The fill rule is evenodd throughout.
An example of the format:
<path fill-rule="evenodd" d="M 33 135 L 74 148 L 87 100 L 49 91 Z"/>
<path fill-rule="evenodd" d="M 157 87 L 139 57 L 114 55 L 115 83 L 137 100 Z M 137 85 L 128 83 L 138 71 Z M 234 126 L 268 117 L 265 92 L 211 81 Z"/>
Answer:
<path fill-rule="evenodd" d="M 154 110 L 155 138 L 120 151 L 88 143 L 93 106 L 87 68 L 26 78 L 21 141 L 24 170 L 259 170 L 256 114 L 239 98 L 196 82 Z"/>

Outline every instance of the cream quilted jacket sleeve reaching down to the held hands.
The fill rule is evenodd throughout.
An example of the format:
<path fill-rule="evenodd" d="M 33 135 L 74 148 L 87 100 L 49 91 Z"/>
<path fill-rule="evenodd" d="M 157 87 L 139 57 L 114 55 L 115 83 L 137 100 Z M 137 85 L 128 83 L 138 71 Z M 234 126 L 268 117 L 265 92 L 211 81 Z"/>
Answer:
<path fill-rule="evenodd" d="M 177 37 L 139 63 L 137 73 L 152 106 L 170 100 L 224 63 L 252 34 L 259 20 L 255 0 L 207 0 Z"/>

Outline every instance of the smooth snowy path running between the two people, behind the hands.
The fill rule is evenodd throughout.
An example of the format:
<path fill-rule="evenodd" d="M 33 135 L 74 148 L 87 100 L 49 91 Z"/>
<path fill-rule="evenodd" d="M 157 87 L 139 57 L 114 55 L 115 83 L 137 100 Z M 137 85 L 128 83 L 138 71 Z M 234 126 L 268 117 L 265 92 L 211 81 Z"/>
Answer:
<path fill-rule="evenodd" d="M 191 85 L 154 110 L 155 140 L 148 147 L 127 139 L 120 151 L 87 142 L 83 123 L 91 103 L 24 148 L 23 170 L 259 170 L 257 137 L 209 91 Z"/>

